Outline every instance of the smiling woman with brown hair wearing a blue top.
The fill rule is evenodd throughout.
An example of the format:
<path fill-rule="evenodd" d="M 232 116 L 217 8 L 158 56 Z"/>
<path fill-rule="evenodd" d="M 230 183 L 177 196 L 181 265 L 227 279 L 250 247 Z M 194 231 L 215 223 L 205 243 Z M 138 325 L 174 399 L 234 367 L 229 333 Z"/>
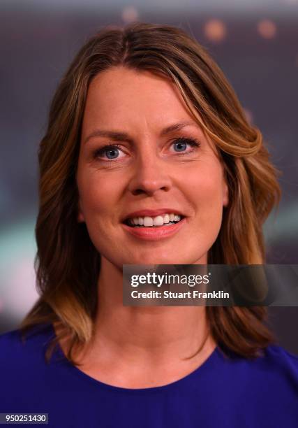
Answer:
<path fill-rule="evenodd" d="M 53 427 L 297 427 L 298 361 L 262 307 L 122 304 L 123 264 L 262 264 L 276 170 L 184 31 L 105 29 L 40 143 L 40 299 L 1 337 L 1 412 Z M 57 346 L 55 346 L 57 345 Z"/>

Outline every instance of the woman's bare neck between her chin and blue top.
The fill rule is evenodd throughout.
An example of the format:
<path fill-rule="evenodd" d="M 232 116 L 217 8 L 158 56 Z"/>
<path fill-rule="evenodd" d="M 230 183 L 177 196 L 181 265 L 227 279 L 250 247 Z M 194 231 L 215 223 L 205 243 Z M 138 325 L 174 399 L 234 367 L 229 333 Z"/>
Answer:
<path fill-rule="evenodd" d="M 103 343 L 122 357 L 159 363 L 215 346 L 204 306 L 123 306 L 122 271 L 105 258 L 98 278 L 93 348 L 99 352 Z"/>

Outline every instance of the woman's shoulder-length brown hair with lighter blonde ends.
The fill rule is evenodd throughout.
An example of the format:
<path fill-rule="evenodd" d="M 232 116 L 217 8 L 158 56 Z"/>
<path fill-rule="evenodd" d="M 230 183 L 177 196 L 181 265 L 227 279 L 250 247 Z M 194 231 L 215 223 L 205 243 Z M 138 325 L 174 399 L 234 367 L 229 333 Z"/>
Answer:
<path fill-rule="evenodd" d="M 93 334 L 100 255 L 86 225 L 77 222 L 77 160 L 89 84 L 101 71 L 120 65 L 170 78 L 216 144 L 229 204 L 208 263 L 265 262 L 262 224 L 280 198 L 277 171 L 262 134 L 246 120 L 221 69 L 181 29 L 140 22 L 107 27 L 84 44 L 61 79 L 38 152 L 35 269 L 40 297 L 20 328 L 26 334 L 39 324 L 61 327 L 47 359 L 54 345 L 68 338 L 66 357 L 75 363 L 75 351 Z M 255 357 L 273 340 L 263 307 L 207 307 L 206 313 L 216 343 L 238 355 Z"/>

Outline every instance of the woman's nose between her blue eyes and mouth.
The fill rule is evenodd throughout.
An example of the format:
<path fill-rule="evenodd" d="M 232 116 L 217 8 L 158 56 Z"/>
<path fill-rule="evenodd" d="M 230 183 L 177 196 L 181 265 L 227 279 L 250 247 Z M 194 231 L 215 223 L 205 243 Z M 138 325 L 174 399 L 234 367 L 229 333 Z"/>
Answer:
<path fill-rule="evenodd" d="M 147 155 L 136 159 L 133 168 L 133 176 L 128 186 L 133 195 L 144 193 L 154 196 L 160 190 L 170 190 L 172 183 L 168 168 L 163 159 L 154 153 L 147 152 Z"/>

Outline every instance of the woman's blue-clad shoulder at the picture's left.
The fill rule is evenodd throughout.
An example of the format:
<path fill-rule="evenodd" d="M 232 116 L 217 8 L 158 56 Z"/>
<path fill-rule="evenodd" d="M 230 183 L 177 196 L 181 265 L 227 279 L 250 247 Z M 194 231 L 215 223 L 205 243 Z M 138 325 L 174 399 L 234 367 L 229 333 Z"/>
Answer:
<path fill-rule="evenodd" d="M 30 413 L 31 409 L 43 413 L 42 409 L 47 408 L 51 400 L 56 403 L 55 397 L 59 397 L 61 388 L 68 387 L 66 362 L 61 362 L 58 352 L 54 352 L 49 361 L 46 359 L 54 336 L 51 324 L 40 324 L 25 335 L 20 329 L 1 334 L 0 413 Z"/>

